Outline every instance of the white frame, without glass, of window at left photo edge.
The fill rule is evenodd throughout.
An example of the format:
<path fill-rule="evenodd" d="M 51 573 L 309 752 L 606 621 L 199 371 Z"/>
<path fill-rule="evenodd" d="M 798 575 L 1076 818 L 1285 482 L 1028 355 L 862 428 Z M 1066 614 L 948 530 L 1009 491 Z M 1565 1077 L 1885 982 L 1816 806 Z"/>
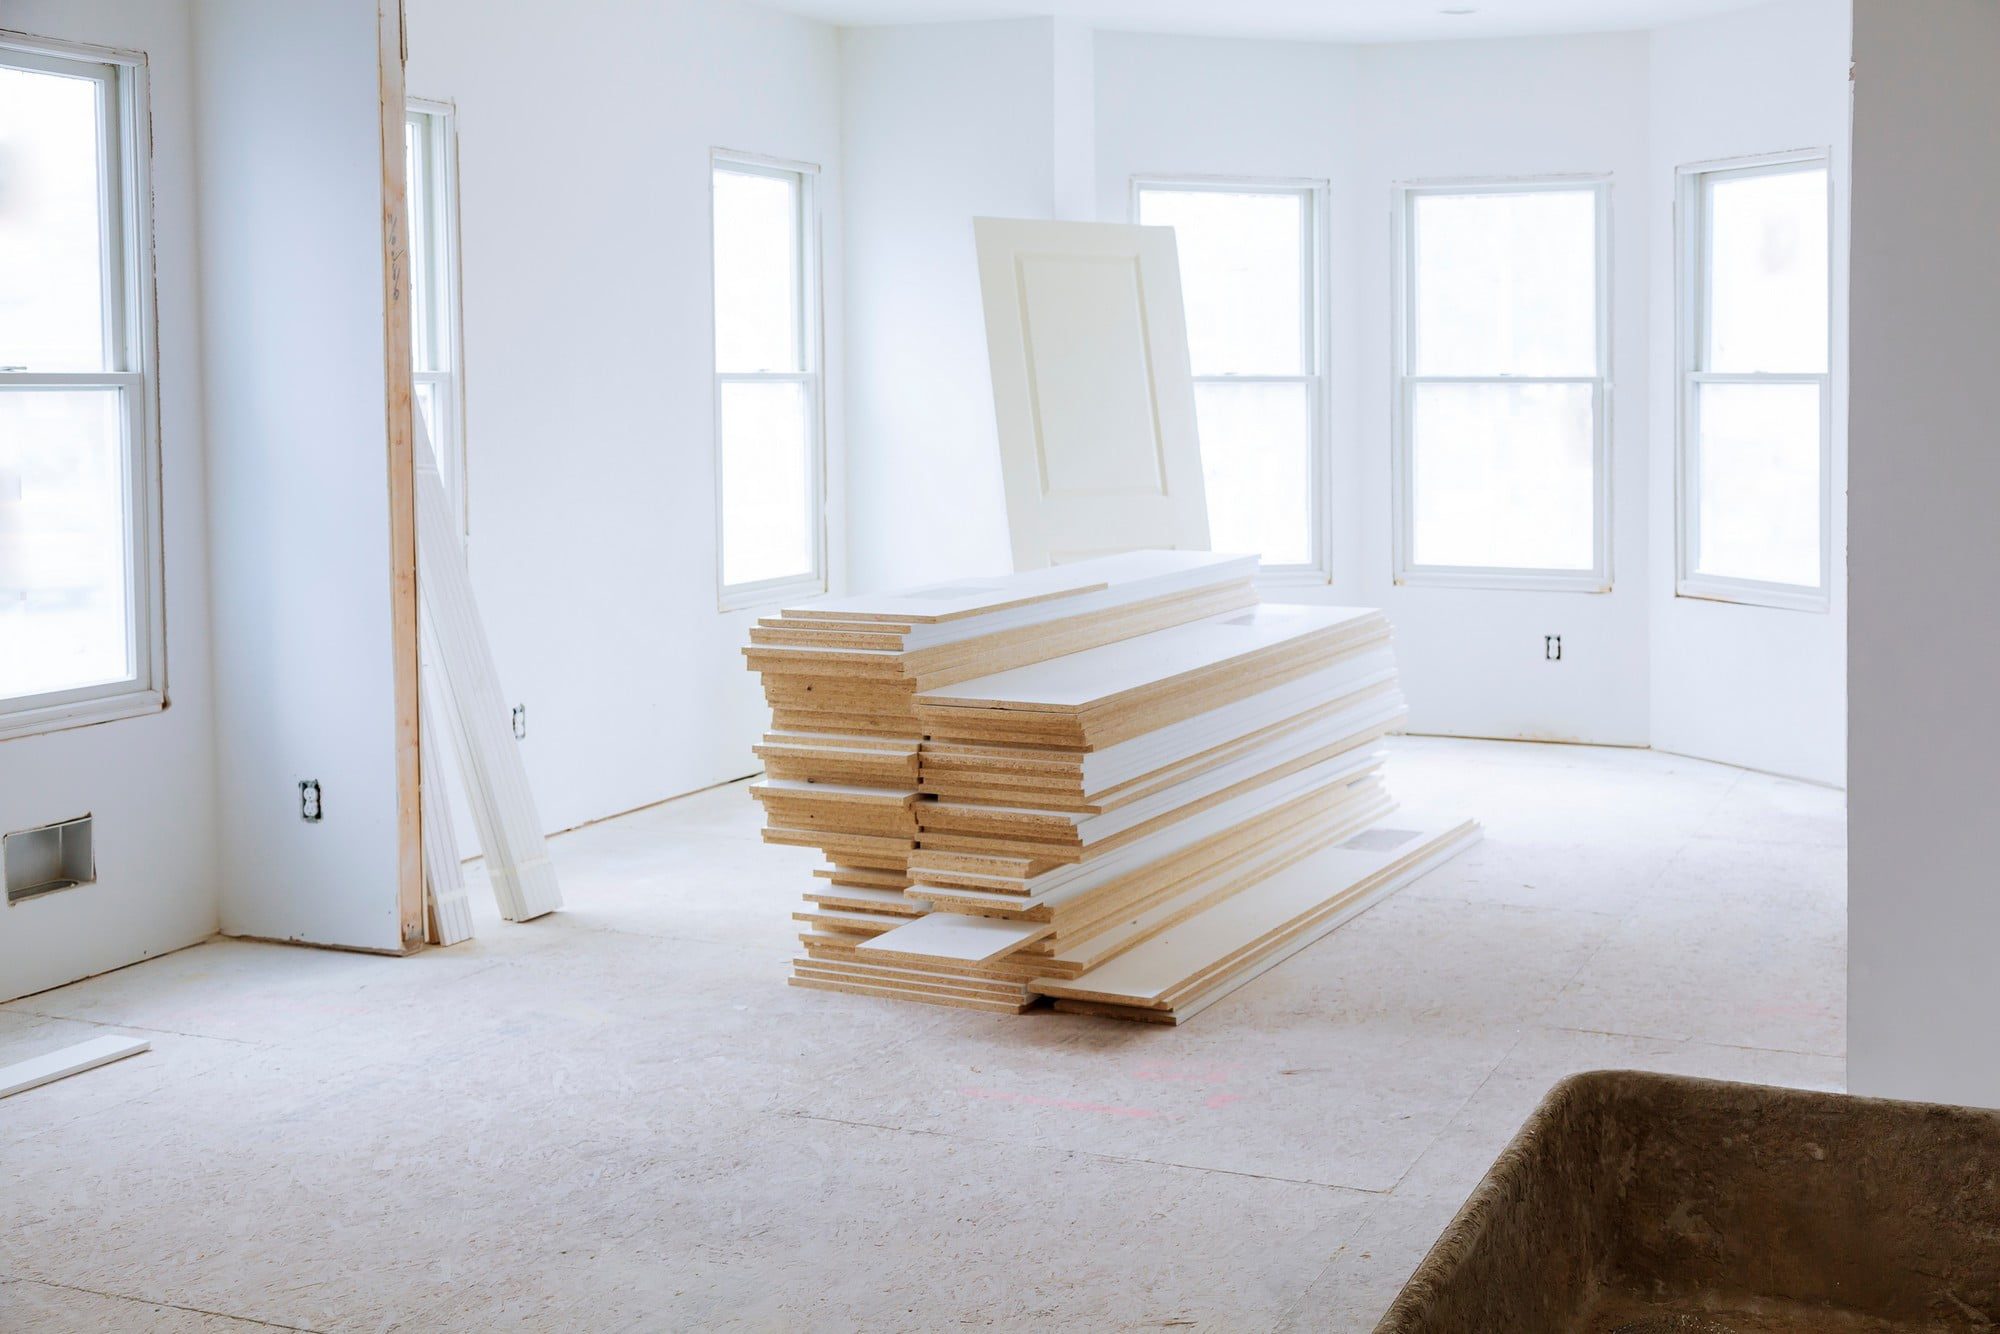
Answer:
<path fill-rule="evenodd" d="M 124 406 L 126 634 L 134 670 L 114 682 L 0 700 L 0 740 L 166 708 L 166 576 L 160 544 L 160 386 L 152 306 L 152 114 L 146 54 L 0 32 L 0 62 L 98 80 L 104 344 L 116 370 L 0 370 L 0 394 L 116 388 Z M 96 66 L 96 68 L 92 68 Z"/>

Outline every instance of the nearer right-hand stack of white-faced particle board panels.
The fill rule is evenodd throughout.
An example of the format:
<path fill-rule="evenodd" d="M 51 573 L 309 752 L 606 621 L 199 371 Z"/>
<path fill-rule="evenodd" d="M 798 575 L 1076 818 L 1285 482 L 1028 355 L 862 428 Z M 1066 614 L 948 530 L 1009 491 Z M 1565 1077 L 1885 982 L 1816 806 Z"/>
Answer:
<path fill-rule="evenodd" d="M 834 854 L 794 984 L 1178 1022 L 1472 834 L 1378 828 L 1372 742 L 1404 716 L 1378 612 L 1236 606 L 1062 648 L 916 674 L 902 884 L 842 896 Z"/>

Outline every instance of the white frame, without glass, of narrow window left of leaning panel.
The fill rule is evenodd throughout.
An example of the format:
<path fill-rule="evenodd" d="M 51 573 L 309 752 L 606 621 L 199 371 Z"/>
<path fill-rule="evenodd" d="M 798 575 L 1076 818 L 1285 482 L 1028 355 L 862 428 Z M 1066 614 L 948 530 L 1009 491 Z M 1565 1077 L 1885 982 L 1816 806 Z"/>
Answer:
<path fill-rule="evenodd" d="M 708 312 L 708 368 L 714 376 L 710 394 L 712 458 L 716 474 L 716 610 L 740 612 L 756 606 L 772 606 L 794 598 L 810 598 L 826 592 L 826 394 L 822 388 L 826 330 L 824 330 L 824 290 L 820 274 L 820 168 L 812 162 L 792 162 L 754 152 L 714 148 L 708 154 L 708 300 L 714 304 L 716 292 L 716 172 L 752 172 L 778 176 L 798 184 L 798 264 L 800 304 L 798 304 L 798 364 L 804 370 L 750 370 L 722 372 L 716 368 L 714 310 Z M 812 520 L 808 550 L 812 570 L 798 576 L 754 580 L 746 584 L 726 584 L 722 574 L 722 386 L 724 384 L 798 384 L 806 390 L 806 484 L 810 486 Z"/>

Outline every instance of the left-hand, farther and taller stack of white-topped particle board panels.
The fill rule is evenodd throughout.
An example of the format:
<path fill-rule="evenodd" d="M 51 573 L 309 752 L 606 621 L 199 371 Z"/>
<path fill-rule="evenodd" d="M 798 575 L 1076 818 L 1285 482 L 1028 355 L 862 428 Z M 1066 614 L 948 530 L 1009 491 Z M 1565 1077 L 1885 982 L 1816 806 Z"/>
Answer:
<path fill-rule="evenodd" d="M 1256 602 L 1256 560 L 1130 552 L 868 598 L 822 598 L 764 618 L 744 650 L 772 730 L 756 748 L 764 838 L 820 848 L 830 866 L 798 916 L 836 946 L 922 916 L 904 894 L 916 852 L 918 690 Z M 808 954 L 810 958 L 810 954 Z"/>

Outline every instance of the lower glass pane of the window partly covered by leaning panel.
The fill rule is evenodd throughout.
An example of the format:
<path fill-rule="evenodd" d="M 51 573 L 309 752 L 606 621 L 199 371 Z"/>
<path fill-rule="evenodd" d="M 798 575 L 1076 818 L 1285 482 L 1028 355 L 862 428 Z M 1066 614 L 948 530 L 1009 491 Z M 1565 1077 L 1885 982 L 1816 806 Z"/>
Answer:
<path fill-rule="evenodd" d="M 1312 386 L 1196 384 L 1208 546 L 1312 562 Z"/>

